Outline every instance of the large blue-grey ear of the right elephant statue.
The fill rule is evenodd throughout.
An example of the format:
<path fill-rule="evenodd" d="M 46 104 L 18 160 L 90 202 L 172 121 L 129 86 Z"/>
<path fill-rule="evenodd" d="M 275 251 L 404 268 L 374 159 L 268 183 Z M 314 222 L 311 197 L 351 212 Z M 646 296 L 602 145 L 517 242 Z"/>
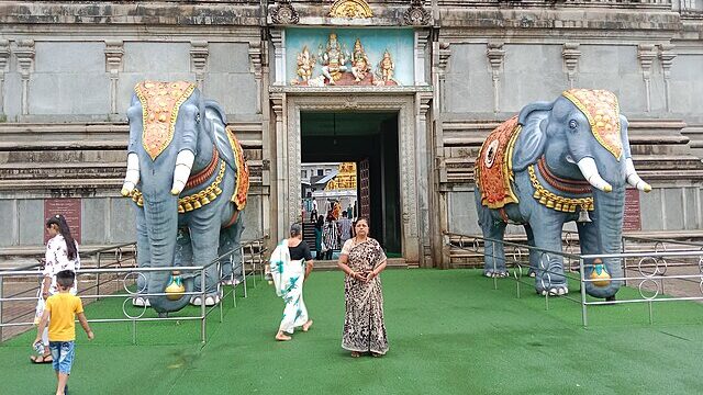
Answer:
<path fill-rule="evenodd" d="M 537 161 L 547 140 L 546 127 L 542 123 L 549 117 L 554 102 L 535 102 L 526 105 L 517 117 L 522 126 L 513 149 L 513 171 L 523 171 Z"/>

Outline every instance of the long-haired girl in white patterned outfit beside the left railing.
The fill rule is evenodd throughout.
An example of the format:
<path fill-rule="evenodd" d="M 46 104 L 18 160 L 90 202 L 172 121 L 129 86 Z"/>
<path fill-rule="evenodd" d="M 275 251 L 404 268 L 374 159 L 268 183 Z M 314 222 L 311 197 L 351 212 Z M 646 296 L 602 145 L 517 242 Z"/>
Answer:
<path fill-rule="evenodd" d="M 74 240 L 66 218 L 60 214 L 49 217 L 46 221 L 46 232 L 51 238 L 46 244 L 46 252 L 44 253 L 43 280 L 37 295 L 36 315 L 34 317 L 34 324 L 36 325 L 38 325 L 44 313 L 45 301 L 49 296 L 58 293 L 56 273 L 64 270 L 70 270 L 75 273 L 80 269 L 78 242 Z M 77 281 L 72 282 L 72 286 L 69 290 L 72 295 L 76 295 L 78 291 L 76 282 Z M 30 357 L 33 363 L 52 362 L 52 352 L 48 342 L 48 328 L 46 328 L 42 334 L 43 352 Z"/>

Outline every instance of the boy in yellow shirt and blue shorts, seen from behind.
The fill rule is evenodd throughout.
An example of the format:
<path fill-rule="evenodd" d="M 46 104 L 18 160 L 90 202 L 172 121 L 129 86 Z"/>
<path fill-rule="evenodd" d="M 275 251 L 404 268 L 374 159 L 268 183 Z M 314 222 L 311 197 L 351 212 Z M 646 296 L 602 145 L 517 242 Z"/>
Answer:
<path fill-rule="evenodd" d="M 52 351 L 54 371 L 58 384 L 56 386 L 56 395 L 65 395 L 68 391 L 68 375 L 74 364 L 74 342 L 76 340 L 76 316 L 83 330 L 88 335 L 88 339 L 93 339 L 92 330 L 88 326 L 88 320 L 83 314 L 83 305 L 78 296 L 70 294 L 74 286 L 76 275 L 70 270 L 64 270 L 56 273 L 56 285 L 59 292 L 46 300 L 44 314 L 40 321 L 38 331 L 34 343 L 42 341 L 42 332 L 48 320 L 48 348 Z M 49 320 L 51 317 L 51 320 Z"/>

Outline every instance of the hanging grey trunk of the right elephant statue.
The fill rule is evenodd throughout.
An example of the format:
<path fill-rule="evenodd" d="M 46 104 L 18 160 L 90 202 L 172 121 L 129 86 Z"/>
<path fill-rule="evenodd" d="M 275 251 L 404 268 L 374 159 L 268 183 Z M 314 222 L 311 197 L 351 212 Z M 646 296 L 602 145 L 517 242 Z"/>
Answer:
<path fill-rule="evenodd" d="M 598 232 L 598 251 L 600 253 L 620 253 L 622 252 L 622 229 L 623 214 L 625 207 L 625 187 L 617 185 L 615 189 L 605 193 L 599 189 L 593 189 L 594 211 L 591 218 L 593 219 Z M 588 261 L 592 264 L 593 261 Z M 603 259 L 605 269 L 611 278 L 622 278 L 623 269 L 620 258 Z M 593 268 L 590 267 L 585 271 L 587 278 L 591 274 Z M 595 297 L 610 297 L 615 295 L 622 280 L 611 280 L 607 285 L 598 286 L 592 282 L 587 282 L 585 291 L 589 295 Z"/>

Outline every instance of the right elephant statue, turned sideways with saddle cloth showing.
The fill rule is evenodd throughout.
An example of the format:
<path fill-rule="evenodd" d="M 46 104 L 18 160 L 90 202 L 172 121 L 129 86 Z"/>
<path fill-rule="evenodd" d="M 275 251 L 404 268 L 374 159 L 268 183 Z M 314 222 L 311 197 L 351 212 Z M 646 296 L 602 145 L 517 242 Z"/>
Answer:
<path fill-rule="evenodd" d="M 571 89 L 535 102 L 488 136 L 476 161 L 476 206 L 486 238 L 487 276 L 506 276 L 507 224 L 523 225 L 529 246 L 561 251 L 563 224 L 576 221 L 583 255 L 621 252 L 626 184 L 649 192 L 633 165 L 627 120 L 605 90 Z M 587 261 L 588 294 L 613 300 L 618 258 Z M 569 292 L 563 258 L 531 249 L 535 289 Z"/>

